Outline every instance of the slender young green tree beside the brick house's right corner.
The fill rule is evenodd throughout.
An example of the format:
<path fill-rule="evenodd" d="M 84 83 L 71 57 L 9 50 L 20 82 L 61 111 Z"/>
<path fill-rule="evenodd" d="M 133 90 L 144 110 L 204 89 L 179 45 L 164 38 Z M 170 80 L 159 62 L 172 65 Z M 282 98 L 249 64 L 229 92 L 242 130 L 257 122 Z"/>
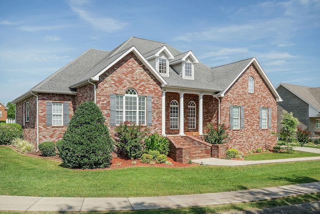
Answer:
<path fill-rule="evenodd" d="M 282 120 L 280 122 L 281 131 L 279 133 L 279 138 L 285 141 L 286 151 L 289 153 L 292 151 L 291 142 L 295 140 L 296 136 L 296 126 L 299 124 L 299 120 L 293 117 L 293 113 L 288 113 L 287 111 L 282 111 Z"/>

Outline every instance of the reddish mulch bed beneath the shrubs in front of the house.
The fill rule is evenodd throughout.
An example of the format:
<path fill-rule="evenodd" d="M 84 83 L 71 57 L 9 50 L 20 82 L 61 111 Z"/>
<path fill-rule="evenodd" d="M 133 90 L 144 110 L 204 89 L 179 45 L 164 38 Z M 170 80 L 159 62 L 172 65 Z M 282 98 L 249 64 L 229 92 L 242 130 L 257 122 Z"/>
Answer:
<path fill-rule="evenodd" d="M 17 151 L 13 146 L 9 146 L 15 151 Z M 17 151 L 18 152 L 18 151 Z M 61 161 L 61 158 L 58 155 L 52 156 L 52 157 L 44 157 L 40 152 L 29 152 L 25 153 L 24 155 L 31 156 L 31 157 L 37 157 L 37 158 L 45 158 L 50 160 L 57 160 Z M 164 163 L 154 163 L 153 165 L 148 163 L 141 163 L 140 160 L 136 160 L 136 164 L 133 165 L 131 160 L 128 159 L 122 159 L 116 156 L 112 157 L 111 165 L 109 168 L 104 169 L 85 169 L 85 170 L 107 170 L 107 169 L 119 169 L 119 168 L 128 168 L 128 167 L 166 167 L 166 168 L 177 168 L 177 167 L 190 167 L 198 165 L 196 163 L 188 164 L 188 163 L 179 163 L 173 161 L 171 158 L 167 157 L 167 160 L 172 163 L 172 165 L 166 165 Z"/>

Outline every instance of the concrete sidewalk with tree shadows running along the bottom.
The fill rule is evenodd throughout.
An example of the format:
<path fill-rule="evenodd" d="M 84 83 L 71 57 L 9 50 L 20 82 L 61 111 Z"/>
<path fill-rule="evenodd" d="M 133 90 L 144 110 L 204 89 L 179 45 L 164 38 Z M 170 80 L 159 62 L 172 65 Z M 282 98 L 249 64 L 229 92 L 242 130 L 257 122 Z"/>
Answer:
<path fill-rule="evenodd" d="M 159 197 L 28 197 L 0 195 L 1 211 L 111 211 L 209 206 L 320 192 L 320 182 L 230 192 Z"/>

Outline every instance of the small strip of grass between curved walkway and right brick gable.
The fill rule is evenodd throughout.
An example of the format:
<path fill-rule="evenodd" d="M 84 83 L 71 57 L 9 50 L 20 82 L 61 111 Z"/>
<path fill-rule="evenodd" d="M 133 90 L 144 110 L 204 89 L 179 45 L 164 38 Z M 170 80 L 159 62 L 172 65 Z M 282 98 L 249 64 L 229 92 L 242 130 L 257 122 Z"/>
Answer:
<path fill-rule="evenodd" d="M 285 158 L 296 158 L 296 157 L 316 157 L 320 154 L 303 152 L 303 151 L 293 151 L 292 153 L 286 152 L 267 152 L 267 153 L 256 153 L 248 154 L 244 156 L 244 160 L 273 160 L 273 159 L 285 159 Z"/>

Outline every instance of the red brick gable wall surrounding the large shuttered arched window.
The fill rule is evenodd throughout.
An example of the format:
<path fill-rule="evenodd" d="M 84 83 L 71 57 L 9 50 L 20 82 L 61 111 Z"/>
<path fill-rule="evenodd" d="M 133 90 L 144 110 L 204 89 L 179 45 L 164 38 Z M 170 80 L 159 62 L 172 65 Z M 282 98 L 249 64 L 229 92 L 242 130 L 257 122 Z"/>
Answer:
<path fill-rule="evenodd" d="M 138 96 L 152 97 L 151 132 L 161 133 L 161 84 L 132 53 L 125 56 L 114 66 L 104 72 L 96 87 L 96 104 L 105 118 L 105 124 L 110 124 L 110 94 L 124 95 L 133 88 Z M 113 136 L 114 126 L 109 126 Z"/>

